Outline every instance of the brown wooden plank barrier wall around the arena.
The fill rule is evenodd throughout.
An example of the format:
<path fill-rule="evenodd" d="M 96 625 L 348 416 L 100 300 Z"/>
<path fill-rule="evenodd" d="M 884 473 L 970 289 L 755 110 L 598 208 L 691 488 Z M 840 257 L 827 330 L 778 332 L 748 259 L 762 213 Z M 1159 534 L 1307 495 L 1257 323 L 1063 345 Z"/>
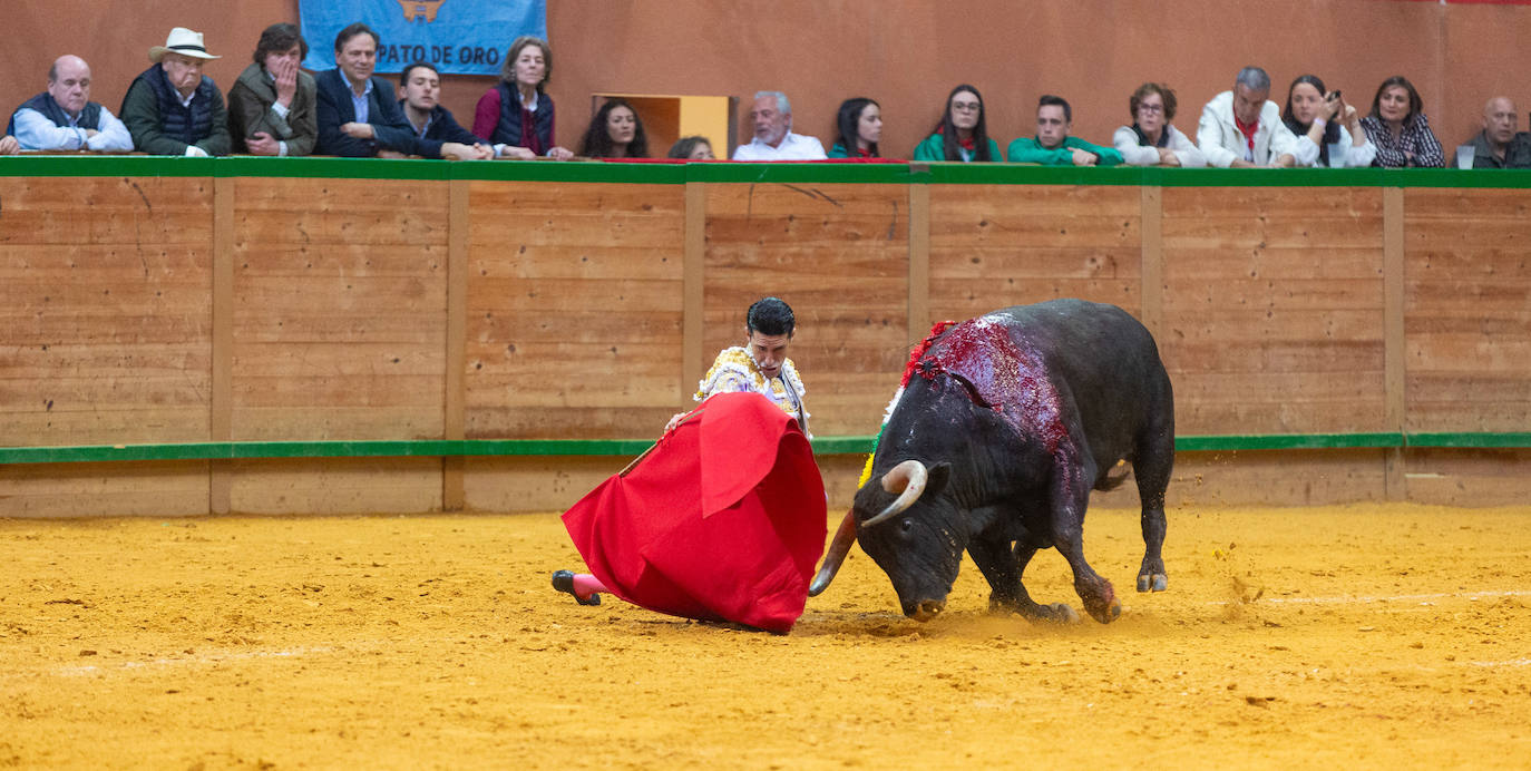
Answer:
<path fill-rule="evenodd" d="M 0 447 L 654 436 L 764 294 L 818 436 L 934 320 L 1053 297 L 1148 324 L 1179 434 L 1531 428 L 1531 190 L 1470 173 L 47 161 L 0 176 Z M 1526 457 L 1182 453 L 1171 497 L 1484 503 Z M 0 516 L 557 509 L 625 460 L 11 465 Z"/>

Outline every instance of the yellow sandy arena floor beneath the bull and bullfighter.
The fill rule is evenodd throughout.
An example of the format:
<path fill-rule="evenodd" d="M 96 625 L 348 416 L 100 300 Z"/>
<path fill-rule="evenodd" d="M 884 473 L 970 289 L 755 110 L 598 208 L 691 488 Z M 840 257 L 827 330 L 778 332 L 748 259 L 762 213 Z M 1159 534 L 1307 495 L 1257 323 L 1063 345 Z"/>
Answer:
<path fill-rule="evenodd" d="M 0 522 L 0 766 L 1531 765 L 1531 508 L 1171 511 L 1159 595 L 1136 528 L 1110 626 L 971 563 L 908 621 L 854 551 L 773 636 L 576 606 L 551 514 Z"/>

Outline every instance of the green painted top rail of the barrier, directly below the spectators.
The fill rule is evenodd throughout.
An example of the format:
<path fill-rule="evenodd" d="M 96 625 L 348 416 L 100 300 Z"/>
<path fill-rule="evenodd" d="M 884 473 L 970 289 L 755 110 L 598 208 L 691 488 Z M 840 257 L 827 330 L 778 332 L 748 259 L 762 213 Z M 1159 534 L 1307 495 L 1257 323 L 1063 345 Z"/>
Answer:
<path fill-rule="evenodd" d="M 1531 170 L 1456 168 L 1073 168 L 1018 164 L 669 164 L 553 161 L 384 161 L 374 158 L 15 156 L 3 177 L 323 177 L 490 179 L 680 185 L 935 184 L 935 185 L 1148 185 L 1148 187 L 1421 187 L 1531 188 Z"/>

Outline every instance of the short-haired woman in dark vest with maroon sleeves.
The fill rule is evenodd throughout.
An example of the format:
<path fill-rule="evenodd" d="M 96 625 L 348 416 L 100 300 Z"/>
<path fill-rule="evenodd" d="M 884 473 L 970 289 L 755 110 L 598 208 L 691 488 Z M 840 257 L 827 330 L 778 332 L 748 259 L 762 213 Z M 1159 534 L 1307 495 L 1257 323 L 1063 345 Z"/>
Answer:
<path fill-rule="evenodd" d="M 553 144 L 553 50 L 537 37 L 522 35 L 510 44 L 499 84 L 479 98 L 473 110 L 473 133 L 495 144 L 499 158 L 568 161 L 574 153 Z"/>

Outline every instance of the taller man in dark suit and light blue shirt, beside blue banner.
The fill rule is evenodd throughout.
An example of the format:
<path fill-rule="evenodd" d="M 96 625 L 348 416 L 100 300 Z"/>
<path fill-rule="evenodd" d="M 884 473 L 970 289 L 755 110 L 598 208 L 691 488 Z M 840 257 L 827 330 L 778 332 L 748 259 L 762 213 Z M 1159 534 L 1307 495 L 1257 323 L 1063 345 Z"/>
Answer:
<path fill-rule="evenodd" d="M 458 142 L 423 144 L 398 107 L 393 86 L 372 75 L 378 35 L 355 23 L 335 35 L 332 70 L 314 76 L 318 86 L 320 155 L 349 158 L 484 158 L 479 148 Z"/>

